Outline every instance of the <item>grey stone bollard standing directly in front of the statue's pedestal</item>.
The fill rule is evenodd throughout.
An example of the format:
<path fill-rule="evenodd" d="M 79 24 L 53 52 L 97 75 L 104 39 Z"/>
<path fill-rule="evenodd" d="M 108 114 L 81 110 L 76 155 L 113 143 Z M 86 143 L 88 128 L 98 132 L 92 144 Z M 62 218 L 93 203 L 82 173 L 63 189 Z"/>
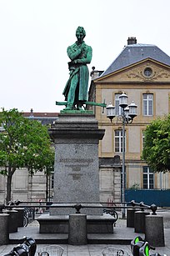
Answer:
<path fill-rule="evenodd" d="M 69 216 L 68 243 L 72 245 L 87 244 L 87 215 L 72 214 Z"/>

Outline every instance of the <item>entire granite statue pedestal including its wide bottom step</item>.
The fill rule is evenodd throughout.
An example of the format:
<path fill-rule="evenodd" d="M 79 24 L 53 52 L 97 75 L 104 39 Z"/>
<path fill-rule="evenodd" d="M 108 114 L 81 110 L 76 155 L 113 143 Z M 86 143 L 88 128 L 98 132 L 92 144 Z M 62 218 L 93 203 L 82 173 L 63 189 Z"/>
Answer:
<path fill-rule="evenodd" d="M 55 144 L 54 197 L 49 216 L 37 219 L 40 233 L 67 233 L 75 204 L 87 215 L 87 233 L 113 233 L 115 220 L 103 216 L 99 200 L 98 143 L 104 132 L 92 111 L 63 111 L 49 129 Z"/>

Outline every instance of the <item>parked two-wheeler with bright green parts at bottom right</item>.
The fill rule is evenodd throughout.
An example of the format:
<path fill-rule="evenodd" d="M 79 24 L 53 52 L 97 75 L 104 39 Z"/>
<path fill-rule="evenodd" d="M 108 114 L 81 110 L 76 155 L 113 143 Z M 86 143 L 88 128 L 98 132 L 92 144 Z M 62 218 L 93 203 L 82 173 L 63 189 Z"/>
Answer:
<path fill-rule="evenodd" d="M 155 250 L 153 246 L 140 236 L 134 238 L 131 242 L 131 251 L 133 256 L 167 256 L 166 254 L 161 255 L 159 253 L 149 254 L 150 249 Z"/>

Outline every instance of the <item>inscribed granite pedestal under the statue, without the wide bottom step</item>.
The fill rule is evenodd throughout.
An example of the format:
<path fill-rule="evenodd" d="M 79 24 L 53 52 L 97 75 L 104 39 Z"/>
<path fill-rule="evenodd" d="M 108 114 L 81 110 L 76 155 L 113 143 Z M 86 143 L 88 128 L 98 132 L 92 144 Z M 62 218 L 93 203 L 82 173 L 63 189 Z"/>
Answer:
<path fill-rule="evenodd" d="M 90 112 L 62 113 L 49 130 L 55 143 L 53 205 L 99 204 L 98 143 L 104 135 Z M 73 214 L 72 208 L 51 208 L 51 215 Z M 101 215 L 100 208 L 82 208 L 81 213 Z"/>

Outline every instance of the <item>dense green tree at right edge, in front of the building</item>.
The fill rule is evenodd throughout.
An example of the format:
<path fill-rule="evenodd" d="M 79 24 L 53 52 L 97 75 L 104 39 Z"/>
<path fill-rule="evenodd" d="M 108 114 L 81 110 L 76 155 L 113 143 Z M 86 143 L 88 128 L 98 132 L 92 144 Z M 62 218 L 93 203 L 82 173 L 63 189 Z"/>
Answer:
<path fill-rule="evenodd" d="M 143 160 L 153 172 L 170 171 L 170 114 L 148 125 L 144 135 Z"/>

